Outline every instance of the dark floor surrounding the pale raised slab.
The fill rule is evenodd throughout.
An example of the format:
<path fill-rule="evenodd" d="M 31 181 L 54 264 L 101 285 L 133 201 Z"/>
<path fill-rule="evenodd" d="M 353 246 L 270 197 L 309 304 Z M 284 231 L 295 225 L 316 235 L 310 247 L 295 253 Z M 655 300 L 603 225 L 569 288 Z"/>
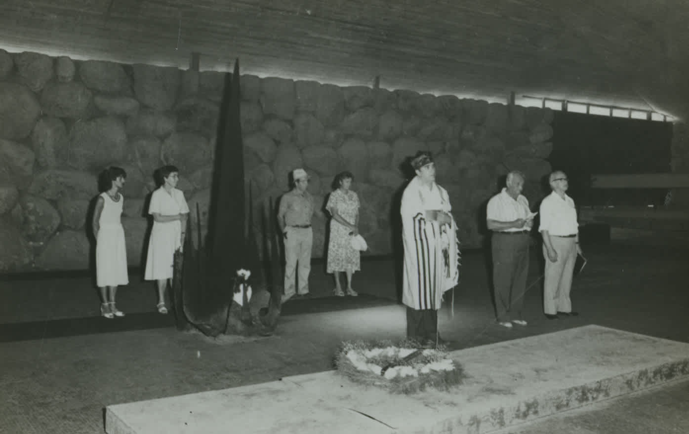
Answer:
<path fill-rule="evenodd" d="M 599 324 L 689 342 L 689 250 L 598 246 L 588 248 L 587 254 L 588 265 L 575 278 L 573 287 L 573 303 L 581 316 L 556 321 L 542 316 L 541 273 L 534 253 L 531 288 L 525 300 L 529 325 L 507 330 L 493 320 L 484 255 L 466 252 L 453 312 L 448 303 L 440 313 L 443 338 L 454 340 L 459 348 L 469 348 Z M 116 331 L 94 326 L 107 320 L 95 318 L 98 300 L 88 276 L 3 276 L 0 432 L 103 433 L 103 409 L 110 404 L 324 371 L 332 368 L 333 353 L 342 340 L 402 338 L 404 309 L 395 302 L 393 262 L 364 260 L 362 268 L 355 276 L 355 288 L 368 297 L 356 302 L 342 300 L 351 303 L 351 309 L 338 310 L 332 309 L 338 300 L 328 298 L 331 280 L 317 262 L 311 278 L 315 300 L 286 304 L 286 309 L 291 304 L 291 314 L 282 318 L 276 335 L 270 338 L 211 339 L 200 333 L 179 333 L 161 324 L 154 313 L 153 288 L 134 274 L 130 276 L 132 283 L 121 289 L 118 297 L 119 307 L 132 315 L 119 320 L 125 325 Z M 136 320 L 137 315 L 154 320 L 142 326 L 145 321 Z M 81 325 L 72 330 L 60 325 L 65 320 Z M 127 321 L 138 325 L 129 327 Z M 17 332 L 21 324 L 27 329 L 42 327 L 43 334 L 34 332 L 27 338 Z M 68 328 L 59 334 L 61 337 L 48 338 L 58 327 Z M 687 391 L 687 384 L 677 384 L 623 398 L 606 409 L 562 415 L 535 422 L 524 427 L 526 431 L 511 432 L 687 432 L 689 402 L 681 400 L 681 396 L 689 395 Z M 625 414 L 630 412 L 659 415 L 658 430 L 633 431 L 652 426 L 649 418 L 646 424 L 633 424 L 626 431 L 605 428 L 615 425 L 615 420 L 626 420 Z M 557 423 L 560 425 L 549 425 Z M 595 431 L 596 426 L 599 431 Z"/>

